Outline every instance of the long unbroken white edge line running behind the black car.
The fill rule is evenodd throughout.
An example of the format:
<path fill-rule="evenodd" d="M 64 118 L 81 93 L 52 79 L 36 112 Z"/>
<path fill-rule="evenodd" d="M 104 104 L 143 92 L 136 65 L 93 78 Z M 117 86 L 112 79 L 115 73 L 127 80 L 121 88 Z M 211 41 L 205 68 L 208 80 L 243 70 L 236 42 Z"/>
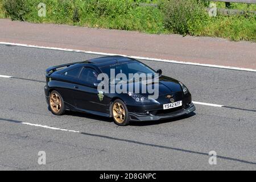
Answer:
<path fill-rule="evenodd" d="M 31 47 L 31 48 L 52 49 L 52 50 L 58 50 L 58 51 L 82 52 L 82 53 L 89 53 L 89 54 L 94 54 L 94 55 L 104 55 L 104 56 L 118 55 L 118 56 L 125 56 L 125 57 L 131 57 L 131 58 L 134 58 L 134 59 L 141 59 L 141 60 L 148 60 L 148 61 L 160 61 L 160 62 L 166 62 L 166 63 L 187 64 L 187 65 L 197 65 L 197 66 L 201 66 L 201 67 L 222 68 L 222 69 L 232 69 L 232 70 L 238 70 L 238 71 L 256 72 L 256 69 L 250 69 L 250 68 L 228 67 L 228 66 L 214 65 L 214 64 L 201 64 L 201 63 L 192 63 L 192 62 L 185 62 L 185 61 L 158 59 L 158 58 L 151 58 L 151 57 L 120 55 L 120 54 L 115 54 L 115 53 L 82 51 L 82 50 L 78 50 L 78 49 L 34 46 L 34 45 L 28 45 L 28 44 L 9 43 L 9 42 L 0 42 L 0 44 L 7 44 L 7 45 L 12 45 L 12 46 L 22 46 L 22 47 Z"/>

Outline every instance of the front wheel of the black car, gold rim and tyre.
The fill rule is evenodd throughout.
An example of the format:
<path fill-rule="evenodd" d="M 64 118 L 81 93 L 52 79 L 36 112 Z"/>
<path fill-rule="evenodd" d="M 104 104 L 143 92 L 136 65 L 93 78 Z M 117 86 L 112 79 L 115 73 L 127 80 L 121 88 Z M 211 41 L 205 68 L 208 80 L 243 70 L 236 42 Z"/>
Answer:
<path fill-rule="evenodd" d="M 129 112 L 122 100 L 117 99 L 113 102 L 112 114 L 116 125 L 127 126 L 130 124 Z"/>

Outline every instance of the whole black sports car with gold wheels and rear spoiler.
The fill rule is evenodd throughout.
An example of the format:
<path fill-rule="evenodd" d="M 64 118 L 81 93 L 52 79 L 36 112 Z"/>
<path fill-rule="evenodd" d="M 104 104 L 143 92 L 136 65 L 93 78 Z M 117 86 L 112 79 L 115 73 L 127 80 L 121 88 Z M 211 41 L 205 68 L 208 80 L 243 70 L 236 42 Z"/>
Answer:
<path fill-rule="evenodd" d="M 136 92 L 104 92 L 99 90 L 101 73 L 108 78 L 102 88 L 113 88 L 118 83 L 113 81 L 110 69 L 115 73 L 128 76 L 129 73 L 145 73 L 156 75 L 158 82 L 146 82 L 158 88 L 158 97 L 150 98 L 150 94 Z M 154 76 L 153 76 L 154 77 Z M 120 79 L 119 79 L 120 80 Z M 88 61 L 70 63 L 51 67 L 46 70 L 46 86 L 44 91 L 49 109 L 53 114 L 64 114 L 65 110 L 113 117 L 117 125 L 129 125 L 130 121 L 156 121 L 159 119 L 178 117 L 196 110 L 191 101 L 191 93 L 184 84 L 162 75 L 162 71 L 154 71 L 138 60 L 122 56 L 106 56 Z M 123 86 L 143 85 L 142 78 L 123 81 Z"/>

